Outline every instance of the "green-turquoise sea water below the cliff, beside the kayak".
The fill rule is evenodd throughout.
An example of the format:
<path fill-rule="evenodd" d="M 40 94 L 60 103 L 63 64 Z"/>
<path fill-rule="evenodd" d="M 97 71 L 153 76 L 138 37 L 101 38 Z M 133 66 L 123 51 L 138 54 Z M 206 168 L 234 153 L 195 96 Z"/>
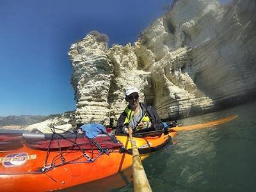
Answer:
<path fill-rule="evenodd" d="M 256 191 L 256 102 L 179 121 L 198 124 L 229 115 L 211 129 L 179 132 L 143 161 L 153 191 Z M 132 191 L 132 183 L 111 191 Z"/>

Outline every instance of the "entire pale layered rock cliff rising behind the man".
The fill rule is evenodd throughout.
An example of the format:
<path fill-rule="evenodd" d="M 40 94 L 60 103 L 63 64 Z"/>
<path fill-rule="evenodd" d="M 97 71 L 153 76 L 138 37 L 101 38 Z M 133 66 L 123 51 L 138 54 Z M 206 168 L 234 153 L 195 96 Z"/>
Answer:
<path fill-rule="evenodd" d="M 164 120 L 207 113 L 256 95 L 256 5 L 178 0 L 133 45 L 100 34 L 70 47 L 79 122 L 114 124 L 137 86 Z"/>

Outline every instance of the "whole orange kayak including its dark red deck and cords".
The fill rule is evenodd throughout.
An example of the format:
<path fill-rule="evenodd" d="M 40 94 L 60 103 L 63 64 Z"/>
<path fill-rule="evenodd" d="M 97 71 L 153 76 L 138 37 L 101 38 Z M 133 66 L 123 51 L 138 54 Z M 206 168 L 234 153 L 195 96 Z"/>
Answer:
<path fill-rule="evenodd" d="M 134 134 L 141 159 L 176 132 Z M 124 134 L 85 138 L 78 134 L 0 134 L 1 191 L 52 191 L 109 177 L 132 166 Z"/>

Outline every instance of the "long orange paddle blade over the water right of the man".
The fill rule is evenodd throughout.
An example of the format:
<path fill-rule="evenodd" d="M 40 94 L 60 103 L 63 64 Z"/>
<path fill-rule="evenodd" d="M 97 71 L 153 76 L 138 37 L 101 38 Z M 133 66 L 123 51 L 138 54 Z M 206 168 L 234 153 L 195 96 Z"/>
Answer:
<path fill-rule="evenodd" d="M 177 126 L 177 127 L 172 127 L 168 129 L 168 131 L 191 131 L 191 130 L 196 130 L 196 129 L 204 129 L 208 127 L 213 127 L 215 125 L 220 125 L 224 124 L 225 122 L 229 122 L 233 120 L 234 118 L 237 118 L 238 115 L 231 115 L 225 118 L 220 118 L 218 120 L 213 120 L 211 122 L 203 123 L 203 124 L 195 124 L 195 125 L 187 125 L 187 126 Z"/>

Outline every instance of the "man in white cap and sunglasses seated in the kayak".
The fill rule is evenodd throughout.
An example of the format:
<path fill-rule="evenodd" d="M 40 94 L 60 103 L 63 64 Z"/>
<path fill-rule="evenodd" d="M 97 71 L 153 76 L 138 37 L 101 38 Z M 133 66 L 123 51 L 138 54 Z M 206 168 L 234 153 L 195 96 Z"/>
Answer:
<path fill-rule="evenodd" d="M 120 115 L 116 133 L 145 132 L 163 129 L 164 125 L 152 106 L 139 102 L 139 90 L 135 87 L 127 88 L 125 91 L 125 100 L 128 106 Z"/>

